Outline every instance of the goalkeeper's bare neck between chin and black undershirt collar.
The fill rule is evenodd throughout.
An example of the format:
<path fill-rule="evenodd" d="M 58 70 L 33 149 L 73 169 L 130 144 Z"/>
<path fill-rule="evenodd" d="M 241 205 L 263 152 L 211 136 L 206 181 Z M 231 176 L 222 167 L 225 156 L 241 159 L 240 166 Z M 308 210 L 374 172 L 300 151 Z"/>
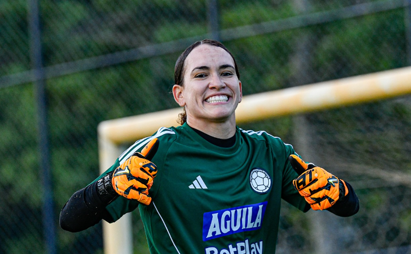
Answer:
<path fill-rule="evenodd" d="M 187 124 L 215 138 L 228 139 L 235 134 L 235 117 L 223 122 L 204 122 L 187 116 Z"/>

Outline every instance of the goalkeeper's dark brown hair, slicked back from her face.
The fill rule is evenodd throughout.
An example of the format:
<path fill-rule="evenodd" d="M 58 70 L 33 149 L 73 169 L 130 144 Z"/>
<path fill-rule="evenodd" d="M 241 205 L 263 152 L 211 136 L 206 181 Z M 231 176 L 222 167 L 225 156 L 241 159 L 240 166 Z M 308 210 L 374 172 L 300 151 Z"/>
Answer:
<path fill-rule="evenodd" d="M 226 48 L 226 46 L 224 46 L 223 43 L 221 43 L 221 42 L 210 40 L 210 39 L 205 39 L 203 41 L 194 42 L 189 47 L 187 47 L 184 50 L 184 52 L 179 56 L 179 58 L 177 59 L 176 65 L 174 67 L 174 84 L 181 85 L 181 86 L 184 85 L 184 72 L 185 72 L 184 62 L 185 62 L 185 59 L 191 53 L 191 51 L 193 51 L 194 48 L 196 48 L 196 47 L 198 47 L 202 44 L 209 44 L 209 45 L 212 45 L 212 46 L 221 47 L 222 49 L 227 51 L 227 53 L 230 54 L 232 60 L 234 61 L 235 75 L 237 75 L 237 78 L 240 79 L 240 72 L 238 72 L 237 63 L 235 62 L 234 56 Z M 181 125 L 183 125 L 186 121 L 187 121 L 187 114 L 185 112 L 185 107 L 184 107 L 183 108 L 183 113 L 179 114 L 179 121 L 178 122 Z"/>

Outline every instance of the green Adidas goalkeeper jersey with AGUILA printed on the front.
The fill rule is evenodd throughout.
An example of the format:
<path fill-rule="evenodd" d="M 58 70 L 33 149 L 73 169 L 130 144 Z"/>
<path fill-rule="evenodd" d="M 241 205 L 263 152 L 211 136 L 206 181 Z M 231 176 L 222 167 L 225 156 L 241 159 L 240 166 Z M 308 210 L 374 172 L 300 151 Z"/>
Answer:
<path fill-rule="evenodd" d="M 292 184 L 293 147 L 265 131 L 237 127 L 235 144 L 222 148 L 187 124 L 162 127 L 108 171 L 153 137 L 160 146 L 151 204 L 119 197 L 106 208 L 115 221 L 139 207 L 151 254 L 274 254 L 281 198 L 306 208 Z"/>

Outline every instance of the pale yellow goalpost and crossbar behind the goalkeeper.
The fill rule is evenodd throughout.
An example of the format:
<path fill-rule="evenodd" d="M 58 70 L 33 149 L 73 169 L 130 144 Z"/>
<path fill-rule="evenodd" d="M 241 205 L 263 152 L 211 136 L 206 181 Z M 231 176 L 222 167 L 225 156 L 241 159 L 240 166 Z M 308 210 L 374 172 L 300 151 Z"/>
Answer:
<path fill-rule="evenodd" d="M 411 93 L 411 67 L 244 96 L 235 114 L 247 123 L 290 114 L 378 101 Z M 100 173 L 123 152 L 122 144 L 150 136 L 159 127 L 177 126 L 181 108 L 101 122 L 98 126 Z M 131 215 L 103 222 L 105 254 L 132 254 Z"/>

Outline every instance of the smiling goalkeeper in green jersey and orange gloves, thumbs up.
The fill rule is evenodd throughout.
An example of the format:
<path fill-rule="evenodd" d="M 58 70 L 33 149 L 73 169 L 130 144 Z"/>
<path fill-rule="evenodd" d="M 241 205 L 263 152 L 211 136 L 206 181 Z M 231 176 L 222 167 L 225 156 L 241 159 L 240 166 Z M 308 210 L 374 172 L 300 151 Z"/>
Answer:
<path fill-rule="evenodd" d="M 60 213 L 64 230 L 111 223 L 138 207 L 151 254 L 274 254 L 281 199 L 303 212 L 358 212 L 346 181 L 280 138 L 236 126 L 242 83 L 223 44 L 193 43 L 174 76 L 181 126 L 138 140 L 76 191 Z"/>

